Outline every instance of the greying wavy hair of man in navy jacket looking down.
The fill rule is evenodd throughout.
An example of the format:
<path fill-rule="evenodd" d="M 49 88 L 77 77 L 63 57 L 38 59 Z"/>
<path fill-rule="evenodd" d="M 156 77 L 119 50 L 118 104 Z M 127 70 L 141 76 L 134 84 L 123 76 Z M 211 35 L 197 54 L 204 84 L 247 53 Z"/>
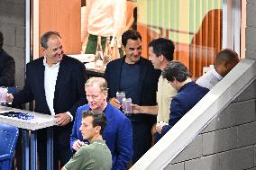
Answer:
<path fill-rule="evenodd" d="M 179 61 L 170 61 L 169 65 L 162 71 L 163 78 L 166 78 L 169 82 L 173 82 L 174 78 L 178 82 L 184 82 L 190 77 L 187 67 Z"/>

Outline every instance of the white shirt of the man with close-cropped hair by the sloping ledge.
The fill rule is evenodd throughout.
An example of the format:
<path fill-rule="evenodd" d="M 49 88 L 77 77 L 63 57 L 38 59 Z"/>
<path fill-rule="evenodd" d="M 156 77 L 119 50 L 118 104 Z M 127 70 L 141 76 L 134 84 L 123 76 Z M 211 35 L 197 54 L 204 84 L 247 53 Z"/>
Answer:
<path fill-rule="evenodd" d="M 206 72 L 205 75 L 197 79 L 196 84 L 211 90 L 222 79 L 223 79 L 223 76 L 220 76 L 216 72 L 215 67 L 212 67 L 209 71 Z"/>

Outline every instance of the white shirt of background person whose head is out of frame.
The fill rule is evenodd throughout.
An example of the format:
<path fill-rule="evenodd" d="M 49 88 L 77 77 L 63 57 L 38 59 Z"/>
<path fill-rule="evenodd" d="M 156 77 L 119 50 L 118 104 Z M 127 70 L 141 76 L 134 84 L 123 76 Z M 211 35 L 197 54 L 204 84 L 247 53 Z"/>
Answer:
<path fill-rule="evenodd" d="M 126 0 L 87 0 L 82 32 L 117 37 L 118 42 L 121 42 L 121 36 L 126 29 L 126 13 Z M 114 44 L 114 39 L 111 44 Z"/>

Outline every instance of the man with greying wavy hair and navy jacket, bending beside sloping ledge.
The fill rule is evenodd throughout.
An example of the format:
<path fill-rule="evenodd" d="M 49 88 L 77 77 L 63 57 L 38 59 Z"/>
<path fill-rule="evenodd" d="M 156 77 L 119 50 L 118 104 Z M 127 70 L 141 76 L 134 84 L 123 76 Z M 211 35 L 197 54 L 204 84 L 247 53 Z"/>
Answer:
<path fill-rule="evenodd" d="M 169 124 L 157 124 L 156 130 L 161 136 L 165 135 L 209 91 L 192 82 L 187 67 L 178 61 L 170 61 L 169 66 L 163 70 L 162 76 L 178 91 L 178 94 L 170 103 Z"/>

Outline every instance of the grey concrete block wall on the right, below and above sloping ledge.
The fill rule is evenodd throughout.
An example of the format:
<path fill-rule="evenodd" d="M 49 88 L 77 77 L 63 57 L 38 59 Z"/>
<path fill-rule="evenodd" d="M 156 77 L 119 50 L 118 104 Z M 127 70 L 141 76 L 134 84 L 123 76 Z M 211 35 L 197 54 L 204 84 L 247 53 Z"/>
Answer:
<path fill-rule="evenodd" d="M 247 0 L 246 3 L 246 58 L 255 60 L 256 0 Z M 210 122 L 165 169 L 256 170 L 255 105 L 256 81 Z"/>

